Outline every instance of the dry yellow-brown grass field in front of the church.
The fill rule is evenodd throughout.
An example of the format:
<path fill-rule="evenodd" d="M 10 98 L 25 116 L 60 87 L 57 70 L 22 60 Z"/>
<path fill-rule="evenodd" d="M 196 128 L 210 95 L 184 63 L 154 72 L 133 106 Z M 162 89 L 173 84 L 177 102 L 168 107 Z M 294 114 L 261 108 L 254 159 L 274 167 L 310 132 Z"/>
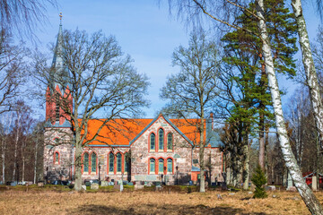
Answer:
<path fill-rule="evenodd" d="M 217 194 L 223 199 L 219 200 Z M 310 214 L 298 193 L 1 191 L 0 214 Z M 275 198 L 273 197 L 275 195 Z M 323 202 L 323 194 L 317 193 Z"/>

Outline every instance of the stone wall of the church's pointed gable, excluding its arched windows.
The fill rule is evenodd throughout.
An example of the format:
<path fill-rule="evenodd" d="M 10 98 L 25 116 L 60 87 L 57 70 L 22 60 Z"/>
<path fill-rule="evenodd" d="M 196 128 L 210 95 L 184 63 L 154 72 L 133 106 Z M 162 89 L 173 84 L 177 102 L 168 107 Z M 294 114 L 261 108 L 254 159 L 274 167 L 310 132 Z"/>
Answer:
<path fill-rule="evenodd" d="M 156 146 L 158 145 L 158 130 L 164 130 L 164 144 L 167 142 L 167 134 L 173 134 L 173 150 L 171 151 L 149 151 L 149 138 L 151 133 L 156 135 Z M 166 181 L 167 184 L 173 185 L 176 180 L 179 183 L 188 183 L 191 173 L 191 150 L 192 146 L 171 126 L 163 117 L 151 125 L 132 145 L 131 145 L 131 179 L 132 181 Z M 166 176 L 161 174 L 149 174 L 149 159 L 172 158 L 173 173 L 167 173 Z M 176 171 L 178 167 L 178 171 Z"/>

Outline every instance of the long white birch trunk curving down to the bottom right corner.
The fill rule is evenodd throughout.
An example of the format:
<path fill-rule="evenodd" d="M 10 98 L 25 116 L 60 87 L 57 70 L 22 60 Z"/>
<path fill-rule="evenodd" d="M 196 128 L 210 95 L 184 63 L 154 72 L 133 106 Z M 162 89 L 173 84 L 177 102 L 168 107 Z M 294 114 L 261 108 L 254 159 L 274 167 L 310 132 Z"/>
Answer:
<path fill-rule="evenodd" d="M 280 97 L 280 91 L 278 88 L 278 82 L 275 76 L 273 57 L 271 47 L 269 45 L 268 33 L 266 31 L 266 22 L 264 18 L 264 3 L 263 0 L 258 0 L 257 14 L 260 19 L 258 20 L 258 27 L 261 39 L 263 40 L 263 53 L 266 63 L 266 74 L 268 78 L 268 85 L 271 92 L 273 107 L 275 113 L 275 125 L 278 133 L 279 143 L 284 157 L 286 168 L 292 176 L 292 180 L 301 194 L 301 198 L 305 202 L 312 214 L 323 214 L 322 206 L 314 193 L 310 190 L 310 187 L 306 185 L 304 179 L 301 176 L 301 170 L 297 166 L 296 159 L 292 154 L 292 148 L 287 135 L 286 125 L 284 122 L 282 100 Z"/>

